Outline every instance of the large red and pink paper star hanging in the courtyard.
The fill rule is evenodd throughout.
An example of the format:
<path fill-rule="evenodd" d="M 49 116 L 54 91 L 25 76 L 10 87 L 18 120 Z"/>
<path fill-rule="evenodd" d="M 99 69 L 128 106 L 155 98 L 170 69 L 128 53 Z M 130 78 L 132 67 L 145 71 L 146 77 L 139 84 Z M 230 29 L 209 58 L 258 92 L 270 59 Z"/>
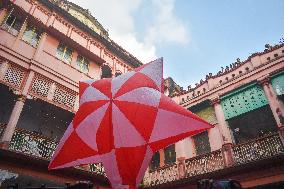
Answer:
<path fill-rule="evenodd" d="M 162 59 L 116 78 L 80 82 L 79 110 L 49 169 L 102 162 L 113 188 L 137 188 L 156 151 L 212 127 L 162 88 Z"/>

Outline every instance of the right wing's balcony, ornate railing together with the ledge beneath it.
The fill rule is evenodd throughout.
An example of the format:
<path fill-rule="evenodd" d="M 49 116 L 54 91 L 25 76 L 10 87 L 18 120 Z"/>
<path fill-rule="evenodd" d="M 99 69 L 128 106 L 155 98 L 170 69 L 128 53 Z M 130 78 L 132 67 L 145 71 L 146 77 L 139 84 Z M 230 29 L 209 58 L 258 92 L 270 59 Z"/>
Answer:
<path fill-rule="evenodd" d="M 226 178 L 234 171 L 254 169 L 279 160 L 284 155 L 284 145 L 279 133 L 270 134 L 249 142 L 232 145 L 232 164 L 228 165 L 224 149 L 213 151 L 194 158 L 185 159 L 174 164 L 149 171 L 145 174 L 143 185 L 146 188 L 170 188 L 177 185 L 196 183 L 201 178 Z M 270 167 L 269 165 L 268 167 Z M 245 170 L 247 171 L 247 170 Z M 230 174 L 229 174 L 230 173 Z"/>

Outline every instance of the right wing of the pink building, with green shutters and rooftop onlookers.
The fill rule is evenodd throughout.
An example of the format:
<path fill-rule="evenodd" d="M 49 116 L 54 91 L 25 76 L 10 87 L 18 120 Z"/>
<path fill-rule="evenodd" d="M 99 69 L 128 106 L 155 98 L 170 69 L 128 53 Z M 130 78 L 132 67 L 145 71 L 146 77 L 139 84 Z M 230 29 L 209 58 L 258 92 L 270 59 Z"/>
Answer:
<path fill-rule="evenodd" d="M 174 83 L 172 89 L 174 101 L 215 127 L 176 143 L 169 164 L 167 151 L 157 153 L 144 178 L 147 187 L 196 188 L 204 178 L 236 179 L 244 188 L 283 187 L 283 44 L 237 59 L 195 87 Z"/>

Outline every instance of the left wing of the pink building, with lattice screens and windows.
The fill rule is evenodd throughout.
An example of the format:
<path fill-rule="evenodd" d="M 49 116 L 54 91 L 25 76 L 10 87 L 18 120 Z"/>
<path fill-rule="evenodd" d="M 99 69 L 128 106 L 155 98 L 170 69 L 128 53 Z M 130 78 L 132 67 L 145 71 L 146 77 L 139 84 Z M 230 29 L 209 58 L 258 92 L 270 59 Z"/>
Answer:
<path fill-rule="evenodd" d="M 95 180 L 109 187 L 101 165 L 66 174 L 48 172 L 47 163 L 78 109 L 79 81 L 115 77 L 142 63 L 73 3 L 5 0 L 0 6 L 0 171 L 17 175 L 15 182 Z"/>

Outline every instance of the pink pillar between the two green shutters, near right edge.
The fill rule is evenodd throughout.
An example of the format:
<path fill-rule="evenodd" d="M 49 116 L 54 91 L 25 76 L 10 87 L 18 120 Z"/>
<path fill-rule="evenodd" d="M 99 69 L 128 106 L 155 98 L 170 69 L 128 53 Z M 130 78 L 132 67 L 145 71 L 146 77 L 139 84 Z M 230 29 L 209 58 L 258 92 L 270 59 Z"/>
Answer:
<path fill-rule="evenodd" d="M 259 83 L 262 85 L 265 96 L 268 100 L 270 109 L 273 113 L 274 119 L 278 127 L 283 126 L 283 124 L 280 121 L 279 116 L 280 115 L 284 116 L 284 107 L 283 107 L 283 104 L 278 101 L 277 95 L 275 94 L 274 89 L 272 88 L 272 85 L 270 84 L 269 77 L 259 80 Z"/>

